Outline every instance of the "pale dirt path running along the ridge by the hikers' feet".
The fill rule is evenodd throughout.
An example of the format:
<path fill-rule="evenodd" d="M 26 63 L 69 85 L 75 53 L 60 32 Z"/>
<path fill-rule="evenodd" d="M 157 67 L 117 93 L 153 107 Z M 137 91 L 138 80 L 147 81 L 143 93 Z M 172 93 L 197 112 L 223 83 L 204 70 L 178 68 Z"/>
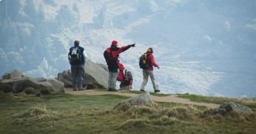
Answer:
<path fill-rule="evenodd" d="M 115 95 L 120 95 L 120 96 L 138 96 L 138 94 L 134 93 L 125 93 L 125 92 L 108 92 L 108 91 L 95 91 L 95 90 L 85 90 L 85 91 L 72 91 L 70 88 L 65 89 L 66 93 L 69 94 L 86 94 L 86 95 L 102 95 L 102 94 L 115 94 Z M 220 105 L 214 104 L 214 103 L 204 103 L 204 102 L 195 102 L 195 101 L 190 101 L 188 99 L 184 98 L 179 98 L 175 95 L 170 95 L 170 96 L 153 96 L 150 95 L 150 98 L 154 101 L 160 101 L 160 102 L 175 102 L 175 103 L 184 103 L 184 104 L 189 104 L 189 105 L 199 105 L 199 106 L 205 106 L 209 108 L 218 108 Z"/>

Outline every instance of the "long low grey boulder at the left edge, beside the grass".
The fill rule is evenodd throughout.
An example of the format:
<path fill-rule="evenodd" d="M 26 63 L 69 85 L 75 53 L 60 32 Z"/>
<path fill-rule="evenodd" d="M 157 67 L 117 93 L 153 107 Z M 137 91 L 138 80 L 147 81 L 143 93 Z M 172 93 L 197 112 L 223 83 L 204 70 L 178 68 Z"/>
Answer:
<path fill-rule="evenodd" d="M 40 91 L 42 94 L 49 94 L 51 92 L 61 93 L 64 92 L 64 84 L 53 78 L 29 77 L 4 79 L 0 82 L 0 91 L 4 93 L 20 93 L 26 89 L 35 89 L 35 91 Z"/>

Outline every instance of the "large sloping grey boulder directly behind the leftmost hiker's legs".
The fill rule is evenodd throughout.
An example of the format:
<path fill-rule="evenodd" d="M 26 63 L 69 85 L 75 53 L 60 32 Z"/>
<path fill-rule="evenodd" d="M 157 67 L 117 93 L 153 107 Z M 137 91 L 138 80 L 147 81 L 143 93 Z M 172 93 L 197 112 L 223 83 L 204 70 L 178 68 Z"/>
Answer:
<path fill-rule="evenodd" d="M 72 87 L 71 70 L 58 73 L 57 79 L 63 82 L 65 87 Z M 83 86 L 87 86 L 88 89 L 92 88 L 88 86 L 106 88 L 108 86 L 108 67 L 88 60 L 85 66 Z"/>

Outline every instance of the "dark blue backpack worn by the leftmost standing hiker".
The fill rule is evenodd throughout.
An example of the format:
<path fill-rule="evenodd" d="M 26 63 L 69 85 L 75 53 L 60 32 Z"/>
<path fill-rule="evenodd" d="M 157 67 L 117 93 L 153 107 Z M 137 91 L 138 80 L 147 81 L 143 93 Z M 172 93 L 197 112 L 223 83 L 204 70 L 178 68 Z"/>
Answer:
<path fill-rule="evenodd" d="M 83 53 L 79 47 L 71 47 L 68 52 L 70 64 L 78 64 L 82 61 Z"/>

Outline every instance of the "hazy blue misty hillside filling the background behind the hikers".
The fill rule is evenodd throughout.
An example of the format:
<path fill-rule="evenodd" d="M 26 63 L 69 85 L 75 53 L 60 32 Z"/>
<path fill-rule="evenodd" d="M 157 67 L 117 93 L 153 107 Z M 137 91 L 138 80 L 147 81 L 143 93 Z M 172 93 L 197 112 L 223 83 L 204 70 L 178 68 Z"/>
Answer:
<path fill-rule="evenodd" d="M 70 68 L 74 40 L 106 64 L 103 52 L 118 40 L 136 43 L 120 54 L 134 90 L 139 57 L 152 47 L 161 93 L 256 96 L 256 0 L 1 0 L 0 29 L 0 75 L 57 77 Z"/>

